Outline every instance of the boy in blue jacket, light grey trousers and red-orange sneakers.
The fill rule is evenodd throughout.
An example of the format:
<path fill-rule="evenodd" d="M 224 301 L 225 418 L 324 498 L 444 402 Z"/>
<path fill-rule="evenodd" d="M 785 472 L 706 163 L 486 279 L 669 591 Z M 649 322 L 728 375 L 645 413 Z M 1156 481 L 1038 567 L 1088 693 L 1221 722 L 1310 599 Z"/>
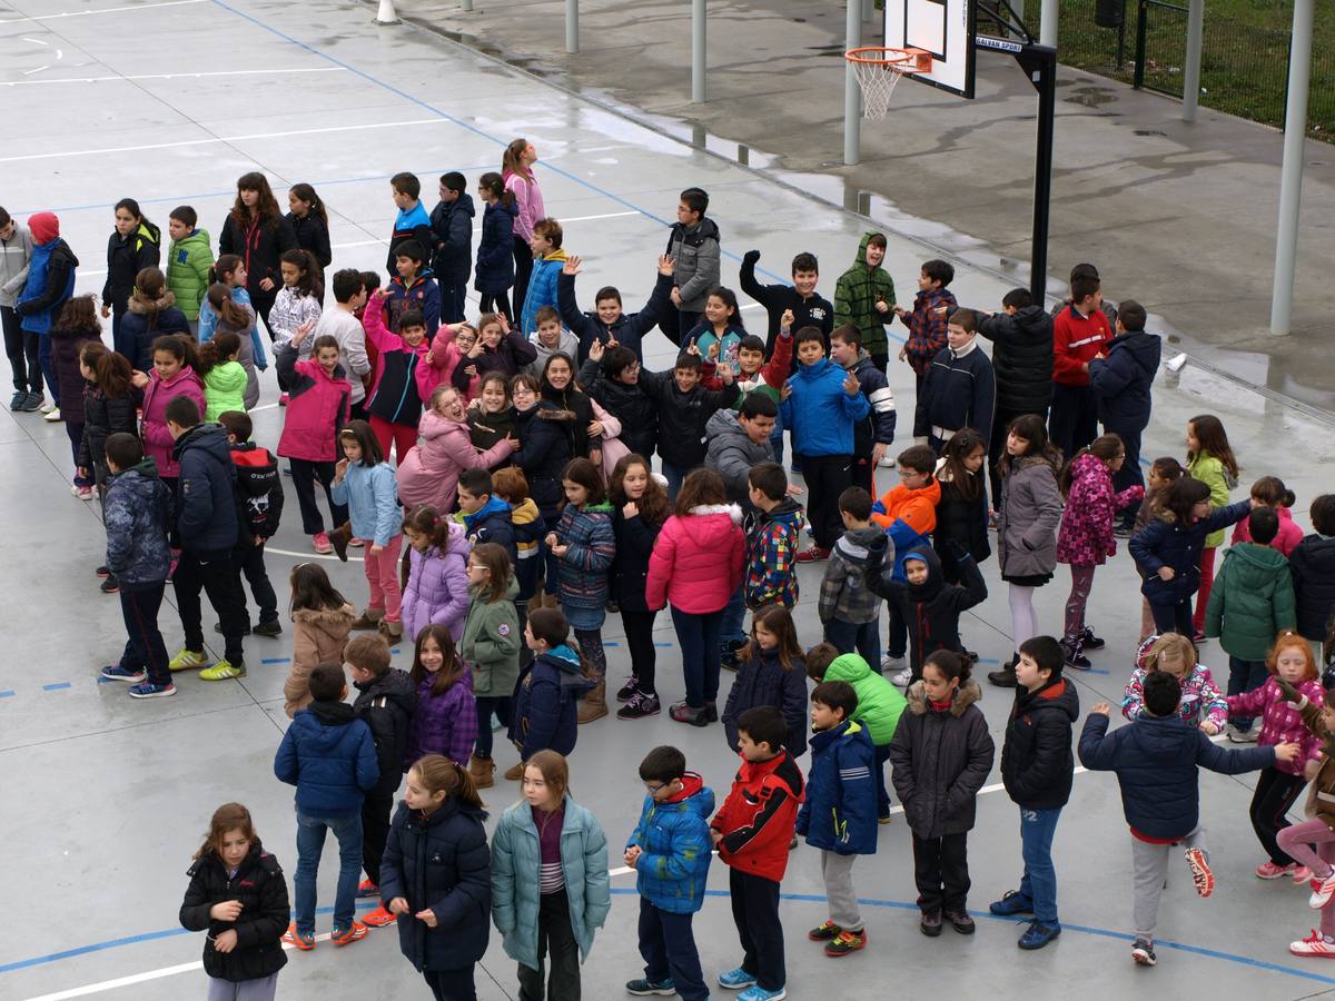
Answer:
<path fill-rule="evenodd" d="M 806 802 L 797 813 L 797 834 L 821 852 L 821 876 L 829 917 L 806 933 L 825 942 L 830 958 L 866 946 L 862 916 L 853 892 L 853 862 L 876 854 L 876 750 L 866 729 L 853 719 L 857 691 L 826 681 L 812 693 L 812 770 Z"/>

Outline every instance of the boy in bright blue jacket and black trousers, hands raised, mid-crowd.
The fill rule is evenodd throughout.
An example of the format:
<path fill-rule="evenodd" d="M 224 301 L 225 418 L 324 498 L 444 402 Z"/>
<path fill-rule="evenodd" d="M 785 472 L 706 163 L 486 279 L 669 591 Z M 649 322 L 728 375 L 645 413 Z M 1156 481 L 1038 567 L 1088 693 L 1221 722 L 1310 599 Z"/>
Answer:
<path fill-rule="evenodd" d="M 797 360 L 780 414 L 784 427 L 792 428 L 793 452 L 806 482 L 814 545 L 797 559 L 808 563 L 828 559 L 842 534 L 837 500 L 852 486 L 853 426 L 870 412 L 870 403 L 857 376 L 825 358 L 814 327 L 797 331 Z"/>

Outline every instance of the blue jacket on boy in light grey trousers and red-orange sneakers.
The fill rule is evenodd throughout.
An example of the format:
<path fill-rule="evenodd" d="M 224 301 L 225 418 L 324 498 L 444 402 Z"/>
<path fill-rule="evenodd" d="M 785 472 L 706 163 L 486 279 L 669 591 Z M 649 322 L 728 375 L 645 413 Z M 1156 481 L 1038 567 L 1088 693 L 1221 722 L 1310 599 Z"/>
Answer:
<path fill-rule="evenodd" d="M 861 723 L 845 719 L 817 730 L 798 837 L 837 856 L 876 854 L 876 747 Z"/>

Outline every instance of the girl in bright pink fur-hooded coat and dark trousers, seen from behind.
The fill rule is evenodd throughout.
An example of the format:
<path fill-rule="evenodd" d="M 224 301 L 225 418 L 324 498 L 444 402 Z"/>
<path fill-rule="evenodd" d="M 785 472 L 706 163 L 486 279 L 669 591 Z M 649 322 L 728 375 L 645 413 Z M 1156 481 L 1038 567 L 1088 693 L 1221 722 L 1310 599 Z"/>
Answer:
<path fill-rule="evenodd" d="M 670 710 L 678 723 L 705 726 L 718 719 L 718 631 L 742 582 L 741 521 L 741 509 L 728 503 L 722 478 L 696 470 L 682 483 L 674 514 L 649 557 L 645 602 L 655 611 L 672 606 L 686 675 L 686 701 Z"/>

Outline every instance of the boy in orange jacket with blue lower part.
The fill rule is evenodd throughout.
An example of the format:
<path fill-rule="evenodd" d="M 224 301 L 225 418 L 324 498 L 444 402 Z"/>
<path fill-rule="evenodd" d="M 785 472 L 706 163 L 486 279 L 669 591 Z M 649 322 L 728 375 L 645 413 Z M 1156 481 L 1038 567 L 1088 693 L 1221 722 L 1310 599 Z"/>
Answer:
<path fill-rule="evenodd" d="M 909 550 L 930 545 L 929 535 L 936 530 L 936 505 L 941 499 L 941 484 L 937 482 L 936 452 L 925 444 L 914 444 L 898 454 L 894 460 L 900 482 L 872 506 L 872 521 L 889 535 L 886 555 L 893 561 L 892 578 L 904 582 L 904 557 Z M 898 605 L 890 602 L 889 651 L 881 662 L 881 671 L 894 671 L 892 681 L 908 686 L 913 670 L 904 659 L 908 650 L 908 625 L 900 618 Z"/>

